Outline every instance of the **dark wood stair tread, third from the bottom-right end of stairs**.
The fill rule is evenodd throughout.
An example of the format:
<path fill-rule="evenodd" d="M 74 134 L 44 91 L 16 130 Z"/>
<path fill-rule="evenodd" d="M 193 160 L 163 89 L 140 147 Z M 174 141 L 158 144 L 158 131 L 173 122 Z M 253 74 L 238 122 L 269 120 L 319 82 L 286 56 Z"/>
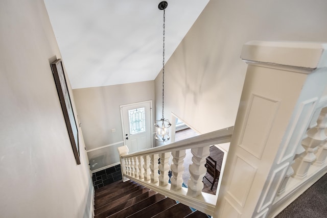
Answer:
<path fill-rule="evenodd" d="M 135 218 L 135 217 L 142 217 L 142 218 L 150 218 L 154 215 L 156 215 L 158 212 L 162 210 L 166 210 L 167 208 L 172 207 L 176 204 L 176 201 L 170 198 L 162 199 L 161 201 L 156 202 L 155 204 L 152 204 L 142 210 L 139 210 L 138 212 L 128 216 L 128 218 Z"/>

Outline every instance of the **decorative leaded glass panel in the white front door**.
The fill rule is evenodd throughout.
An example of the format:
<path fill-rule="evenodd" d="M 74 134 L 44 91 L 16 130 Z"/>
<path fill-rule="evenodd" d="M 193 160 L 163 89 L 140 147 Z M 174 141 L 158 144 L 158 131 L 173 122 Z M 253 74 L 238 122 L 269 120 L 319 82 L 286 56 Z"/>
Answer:
<path fill-rule="evenodd" d="M 128 110 L 130 135 L 145 132 L 145 108 Z"/>

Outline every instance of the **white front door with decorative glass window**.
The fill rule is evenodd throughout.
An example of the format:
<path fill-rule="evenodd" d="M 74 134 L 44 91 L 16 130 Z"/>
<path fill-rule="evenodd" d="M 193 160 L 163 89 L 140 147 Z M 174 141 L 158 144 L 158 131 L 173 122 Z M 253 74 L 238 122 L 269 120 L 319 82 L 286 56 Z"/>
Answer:
<path fill-rule="evenodd" d="M 129 152 L 150 149 L 152 101 L 122 105 L 120 108 L 124 143 Z"/>

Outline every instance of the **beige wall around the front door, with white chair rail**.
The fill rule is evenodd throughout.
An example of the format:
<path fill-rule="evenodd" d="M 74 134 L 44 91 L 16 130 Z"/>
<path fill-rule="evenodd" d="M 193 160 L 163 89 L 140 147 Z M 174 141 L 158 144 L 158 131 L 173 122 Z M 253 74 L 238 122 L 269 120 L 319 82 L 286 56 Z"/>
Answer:
<path fill-rule="evenodd" d="M 73 90 L 87 150 L 123 141 L 120 105 L 153 100 L 154 81 Z M 115 129 L 115 132 L 111 132 Z M 116 147 L 88 153 L 91 169 L 119 162 Z M 97 163 L 97 165 L 93 164 Z"/>

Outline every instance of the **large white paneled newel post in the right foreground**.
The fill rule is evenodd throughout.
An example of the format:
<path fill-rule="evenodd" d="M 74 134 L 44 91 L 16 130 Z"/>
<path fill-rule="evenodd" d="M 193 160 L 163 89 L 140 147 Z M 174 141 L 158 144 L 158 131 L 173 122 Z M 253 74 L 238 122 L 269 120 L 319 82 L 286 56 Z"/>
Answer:
<path fill-rule="evenodd" d="M 311 42 L 243 46 L 248 67 L 214 217 L 275 215 L 277 192 L 327 85 L 326 50 Z"/>

